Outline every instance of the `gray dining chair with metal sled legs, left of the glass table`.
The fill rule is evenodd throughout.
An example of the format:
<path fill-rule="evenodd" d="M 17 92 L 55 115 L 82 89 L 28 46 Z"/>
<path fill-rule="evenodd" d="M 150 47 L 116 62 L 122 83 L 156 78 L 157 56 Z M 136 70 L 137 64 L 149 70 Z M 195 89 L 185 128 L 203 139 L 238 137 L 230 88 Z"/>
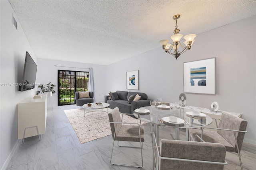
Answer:
<path fill-rule="evenodd" d="M 112 110 L 108 114 L 108 118 L 109 118 L 109 122 L 110 122 L 112 138 L 113 138 L 113 146 L 112 146 L 110 164 L 141 168 L 143 166 L 142 142 L 144 142 L 144 126 L 140 126 L 140 124 L 138 124 L 138 123 L 122 122 L 121 118 L 120 118 L 119 108 L 114 108 L 114 110 Z M 115 141 L 118 141 L 118 142 L 119 141 L 140 142 L 140 147 L 134 147 L 134 146 L 123 146 L 123 147 L 140 148 L 141 166 L 113 163 L 112 155 L 113 155 Z M 118 145 L 118 146 L 120 146 L 120 145 Z"/>

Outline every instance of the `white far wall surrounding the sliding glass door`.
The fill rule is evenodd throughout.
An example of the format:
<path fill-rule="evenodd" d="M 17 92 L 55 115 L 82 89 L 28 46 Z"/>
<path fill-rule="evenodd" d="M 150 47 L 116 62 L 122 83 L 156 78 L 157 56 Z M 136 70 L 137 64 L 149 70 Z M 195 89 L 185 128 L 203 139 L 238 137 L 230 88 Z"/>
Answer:
<path fill-rule="evenodd" d="M 85 57 L 86 60 L 86 57 Z M 106 66 L 97 64 L 85 64 L 77 62 L 65 62 L 58 60 L 48 60 L 48 59 L 37 59 L 37 82 L 38 84 L 52 82 L 56 85 L 54 90 L 55 94 L 52 95 L 53 106 L 58 105 L 58 70 L 70 70 L 70 71 L 84 71 L 89 72 L 88 69 L 82 68 L 92 68 L 94 73 L 94 101 L 103 102 L 104 95 L 106 95 Z M 57 66 L 57 67 L 56 67 Z M 65 67 L 58 67 L 65 66 Z M 76 67 L 76 68 L 70 68 Z M 36 88 L 40 90 L 40 88 Z"/>

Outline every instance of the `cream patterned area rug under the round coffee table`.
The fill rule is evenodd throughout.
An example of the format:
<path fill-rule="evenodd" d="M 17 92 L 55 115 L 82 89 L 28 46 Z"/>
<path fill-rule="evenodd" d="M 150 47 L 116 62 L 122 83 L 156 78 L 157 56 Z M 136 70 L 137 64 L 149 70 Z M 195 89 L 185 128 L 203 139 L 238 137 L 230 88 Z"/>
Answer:
<path fill-rule="evenodd" d="M 85 111 L 88 112 L 91 110 L 87 109 Z M 111 112 L 112 109 L 105 108 L 103 111 Z M 76 132 L 76 135 L 78 136 L 81 144 L 96 140 L 98 138 L 103 138 L 111 134 L 108 114 L 104 113 L 103 116 L 105 117 L 99 118 L 99 116 L 102 116 L 101 110 L 86 114 L 85 117 L 83 108 L 64 110 L 64 112 L 68 117 L 68 120 L 74 131 Z M 124 115 L 122 122 L 140 123 L 140 120 L 128 115 Z M 145 124 L 146 122 L 141 121 L 141 123 Z"/>

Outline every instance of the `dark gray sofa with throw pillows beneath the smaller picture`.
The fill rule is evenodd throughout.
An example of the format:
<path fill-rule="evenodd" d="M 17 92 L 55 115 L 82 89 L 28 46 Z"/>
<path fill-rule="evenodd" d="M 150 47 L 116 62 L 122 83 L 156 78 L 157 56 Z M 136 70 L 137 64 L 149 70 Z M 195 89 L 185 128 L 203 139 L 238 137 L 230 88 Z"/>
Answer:
<path fill-rule="evenodd" d="M 109 108 L 119 108 L 121 113 L 133 113 L 133 111 L 137 108 L 150 106 L 150 100 L 148 99 L 148 95 L 140 92 L 127 92 L 127 91 L 116 91 L 119 100 L 110 100 L 110 96 L 104 96 L 105 103 L 110 104 Z M 131 104 L 128 104 L 128 99 L 131 95 L 140 95 L 141 98 L 138 101 L 132 101 Z"/>

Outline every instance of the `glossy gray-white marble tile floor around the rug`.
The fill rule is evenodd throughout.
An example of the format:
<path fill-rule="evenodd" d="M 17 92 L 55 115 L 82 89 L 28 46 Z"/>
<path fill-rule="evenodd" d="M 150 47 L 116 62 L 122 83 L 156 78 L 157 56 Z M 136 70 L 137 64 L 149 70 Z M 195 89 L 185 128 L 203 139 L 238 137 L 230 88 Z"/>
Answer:
<path fill-rule="evenodd" d="M 81 144 L 63 110 L 75 109 L 76 105 L 56 106 L 47 110 L 46 133 L 42 140 L 38 136 L 26 138 L 19 143 L 6 170 L 138 170 L 138 168 L 112 166 L 110 154 L 112 137 L 106 136 Z M 82 109 L 82 108 L 81 108 Z M 152 170 L 152 142 L 149 124 L 145 124 L 145 142 L 141 170 Z M 169 128 L 160 128 L 160 138 L 170 139 Z M 175 131 L 172 129 L 172 134 Z M 180 132 L 180 139 L 185 139 Z M 124 144 L 124 143 L 123 143 Z M 129 144 L 126 143 L 125 144 Z M 135 144 L 136 145 L 136 144 Z M 113 161 L 124 164 L 140 164 L 140 150 L 114 147 Z M 256 146 L 243 144 L 241 150 L 244 170 L 256 170 Z M 228 165 L 224 170 L 240 170 L 238 155 L 227 152 Z"/>

